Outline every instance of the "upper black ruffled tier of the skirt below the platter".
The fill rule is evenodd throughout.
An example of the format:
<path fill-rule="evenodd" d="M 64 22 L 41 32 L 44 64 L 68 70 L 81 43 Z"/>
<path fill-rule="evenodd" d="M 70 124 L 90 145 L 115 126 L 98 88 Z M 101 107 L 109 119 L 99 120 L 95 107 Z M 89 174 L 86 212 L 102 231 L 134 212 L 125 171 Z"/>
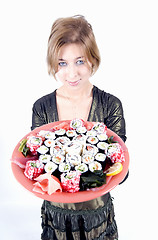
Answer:
<path fill-rule="evenodd" d="M 86 232 L 90 232 L 93 228 L 100 227 L 104 222 L 107 222 L 108 230 L 109 225 L 111 228 L 114 221 L 112 199 L 109 197 L 107 204 L 104 207 L 94 210 L 79 211 L 61 209 L 44 201 L 42 206 L 42 220 L 43 226 L 50 226 L 61 232 L 65 232 L 68 227 L 71 228 L 72 232 L 79 231 L 81 227 L 84 228 Z"/>

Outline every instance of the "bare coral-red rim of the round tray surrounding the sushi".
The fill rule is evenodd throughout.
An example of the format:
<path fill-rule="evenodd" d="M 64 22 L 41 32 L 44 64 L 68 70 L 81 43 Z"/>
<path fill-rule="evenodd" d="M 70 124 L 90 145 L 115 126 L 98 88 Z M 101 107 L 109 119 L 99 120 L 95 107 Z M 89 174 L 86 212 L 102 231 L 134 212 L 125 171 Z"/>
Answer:
<path fill-rule="evenodd" d="M 39 132 L 40 130 L 50 130 L 52 127 L 58 125 L 61 122 L 62 121 L 53 122 L 53 123 L 49 123 L 49 124 L 43 125 L 41 127 L 38 127 L 35 130 L 28 133 L 23 138 L 27 138 L 27 136 L 30 135 L 31 133 L 35 134 L 35 133 Z M 48 200 L 48 201 L 60 202 L 60 203 L 77 203 L 77 202 L 84 202 L 84 201 L 88 201 L 88 200 L 92 200 L 94 198 L 100 197 L 100 196 L 108 193 L 109 191 L 111 191 L 121 181 L 123 181 L 123 179 L 125 178 L 125 176 L 128 172 L 128 167 L 129 167 L 129 153 L 128 153 L 128 149 L 127 149 L 125 143 L 123 142 L 123 140 L 116 133 L 111 131 L 110 129 L 107 129 L 107 135 L 108 135 L 108 137 L 109 136 L 114 136 L 114 140 L 118 141 L 120 143 L 120 145 L 122 146 L 122 148 L 124 150 L 125 162 L 122 163 L 123 164 L 123 170 L 119 174 L 117 174 L 113 177 L 107 177 L 106 184 L 104 184 L 101 187 L 93 188 L 93 189 L 90 189 L 90 190 L 87 190 L 87 191 L 79 191 L 79 192 L 76 192 L 76 193 L 55 192 L 52 195 L 48 195 L 47 193 L 40 194 L 40 193 L 36 193 L 36 192 L 33 191 L 33 188 L 34 188 L 33 184 L 35 183 L 35 181 L 29 180 L 28 178 L 26 178 L 25 175 L 24 175 L 24 169 L 20 168 L 14 162 L 11 163 L 13 174 L 14 174 L 16 180 L 24 188 L 26 188 L 28 191 L 33 193 L 35 196 L 37 196 L 39 198 L 42 198 L 42 199 L 45 199 L 45 200 Z M 18 151 L 18 148 L 20 146 L 20 142 L 21 142 L 21 140 L 16 145 L 16 147 L 13 151 L 12 159 L 22 157 L 22 154 Z M 26 158 L 24 157 L 24 161 L 25 160 L 26 160 Z"/>

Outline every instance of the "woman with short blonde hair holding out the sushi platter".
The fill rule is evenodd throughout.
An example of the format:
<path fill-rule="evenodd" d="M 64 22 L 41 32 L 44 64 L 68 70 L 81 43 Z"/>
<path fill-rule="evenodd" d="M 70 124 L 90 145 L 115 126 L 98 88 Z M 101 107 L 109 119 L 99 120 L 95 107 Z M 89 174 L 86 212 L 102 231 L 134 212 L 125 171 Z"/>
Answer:
<path fill-rule="evenodd" d="M 124 141 L 121 102 L 89 81 L 100 64 L 91 25 L 82 16 L 61 18 L 52 26 L 48 41 L 49 74 L 62 86 L 38 99 L 33 106 L 32 129 L 54 121 L 81 118 L 104 122 Z M 110 193 L 82 203 L 44 201 L 42 240 L 118 239 Z"/>

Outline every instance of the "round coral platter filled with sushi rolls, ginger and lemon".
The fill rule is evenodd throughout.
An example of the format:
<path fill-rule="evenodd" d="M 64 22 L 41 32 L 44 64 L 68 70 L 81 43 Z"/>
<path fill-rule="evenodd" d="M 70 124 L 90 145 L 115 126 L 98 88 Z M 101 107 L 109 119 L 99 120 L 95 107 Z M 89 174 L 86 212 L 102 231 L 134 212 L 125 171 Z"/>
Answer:
<path fill-rule="evenodd" d="M 11 167 L 17 181 L 35 196 L 75 203 L 102 196 L 123 181 L 129 154 L 104 123 L 73 119 L 24 136 L 13 151 Z"/>

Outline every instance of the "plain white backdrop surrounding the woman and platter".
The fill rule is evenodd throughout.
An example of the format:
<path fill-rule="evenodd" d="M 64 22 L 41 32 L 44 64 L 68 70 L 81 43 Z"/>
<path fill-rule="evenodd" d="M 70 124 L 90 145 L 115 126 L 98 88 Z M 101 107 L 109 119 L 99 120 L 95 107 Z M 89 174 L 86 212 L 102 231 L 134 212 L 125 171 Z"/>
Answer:
<path fill-rule="evenodd" d="M 82 14 L 92 24 L 102 63 L 92 83 L 122 101 L 130 176 L 112 190 L 120 240 L 157 239 L 157 1 L 5 0 L 0 3 L 0 236 L 39 240 L 42 200 L 10 166 L 30 131 L 32 105 L 58 83 L 47 74 L 47 40 L 59 17 Z"/>

